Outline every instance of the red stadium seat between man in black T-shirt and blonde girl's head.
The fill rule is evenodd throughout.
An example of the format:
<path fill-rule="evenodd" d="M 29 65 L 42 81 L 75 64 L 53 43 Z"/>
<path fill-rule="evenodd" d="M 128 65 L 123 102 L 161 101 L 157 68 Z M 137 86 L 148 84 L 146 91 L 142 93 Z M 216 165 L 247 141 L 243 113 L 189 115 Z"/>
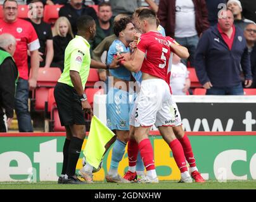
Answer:
<path fill-rule="evenodd" d="M 44 6 L 44 21 L 54 25 L 55 21 L 59 18 L 60 8 L 64 5 L 46 5 Z"/>

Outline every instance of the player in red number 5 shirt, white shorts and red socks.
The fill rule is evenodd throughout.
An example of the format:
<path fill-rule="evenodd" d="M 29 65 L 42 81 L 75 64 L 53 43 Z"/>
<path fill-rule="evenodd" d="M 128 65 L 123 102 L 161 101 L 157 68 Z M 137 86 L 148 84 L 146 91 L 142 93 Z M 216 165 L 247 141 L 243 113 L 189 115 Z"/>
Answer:
<path fill-rule="evenodd" d="M 143 9 L 138 15 L 139 25 L 143 35 L 139 39 L 137 52 L 133 61 L 125 61 L 124 66 L 130 71 L 143 73 L 141 91 L 134 105 L 130 125 L 134 126 L 134 135 L 131 134 L 132 155 L 136 157 L 141 152 L 147 174 L 138 182 L 158 182 L 153 160 L 153 148 L 148 134 L 150 127 L 155 124 L 163 139 L 170 146 L 174 159 L 181 170 L 181 181 L 192 182 L 186 167 L 184 151 L 179 140 L 172 130 L 175 122 L 172 109 L 170 87 L 166 82 L 170 50 L 181 57 L 188 57 L 186 48 L 172 43 L 170 37 L 163 37 L 157 32 L 155 13 Z M 134 141 L 136 140 L 136 141 Z"/>

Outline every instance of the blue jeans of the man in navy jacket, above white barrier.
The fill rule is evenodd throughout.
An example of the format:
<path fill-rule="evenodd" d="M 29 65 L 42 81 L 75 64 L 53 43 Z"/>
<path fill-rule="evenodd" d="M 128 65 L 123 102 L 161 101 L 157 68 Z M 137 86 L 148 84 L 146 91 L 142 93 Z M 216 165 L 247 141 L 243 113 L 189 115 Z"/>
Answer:
<path fill-rule="evenodd" d="M 212 87 L 207 89 L 206 95 L 244 95 L 243 94 L 243 86 L 240 85 L 232 86 L 232 87 Z"/>

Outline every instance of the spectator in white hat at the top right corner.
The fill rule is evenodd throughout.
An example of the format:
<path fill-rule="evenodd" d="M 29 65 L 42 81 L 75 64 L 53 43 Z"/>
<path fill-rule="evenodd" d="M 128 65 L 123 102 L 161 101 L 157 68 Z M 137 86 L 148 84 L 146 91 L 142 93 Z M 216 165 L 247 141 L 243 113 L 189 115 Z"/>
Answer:
<path fill-rule="evenodd" d="M 238 0 L 229 0 L 227 1 L 227 8 L 230 9 L 234 15 L 234 25 L 240 27 L 242 30 L 245 30 L 246 25 L 249 23 L 254 23 L 252 20 L 248 20 L 243 17 L 241 2 Z"/>

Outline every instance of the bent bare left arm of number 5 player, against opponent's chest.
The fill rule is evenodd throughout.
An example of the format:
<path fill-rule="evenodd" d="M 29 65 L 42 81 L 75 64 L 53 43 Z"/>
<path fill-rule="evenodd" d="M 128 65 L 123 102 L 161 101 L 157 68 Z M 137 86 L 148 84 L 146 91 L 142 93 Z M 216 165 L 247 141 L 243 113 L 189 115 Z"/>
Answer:
<path fill-rule="evenodd" d="M 144 61 L 145 53 L 141 50 L 137 50 L 132 61 L 124 61 L 122 64 L 126 69 L 133 72 L 138 72 L 141 69 L 141 65 Z"/>

